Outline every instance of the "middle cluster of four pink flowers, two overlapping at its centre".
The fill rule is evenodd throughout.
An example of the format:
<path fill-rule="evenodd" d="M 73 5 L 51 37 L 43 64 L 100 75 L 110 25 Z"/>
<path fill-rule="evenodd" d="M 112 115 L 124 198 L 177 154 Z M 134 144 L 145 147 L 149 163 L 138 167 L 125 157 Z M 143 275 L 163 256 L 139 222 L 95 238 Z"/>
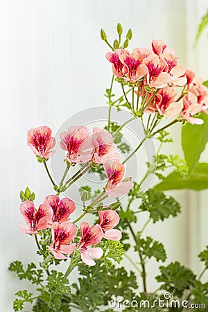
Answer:
<path fill-rule="evenodd" d="M 69 166 L 76 163 L 103 164 L 107 175 L 108 196 L 116 198 L 119 194 L 126 194 L 133 187 L 130 178 L 123 181 L 125 168 L 119 162 L 120 155 L 114 144 L 110 132 L 100 128 L 94 128 L 92 135 L 87 127 L 73 125 L 68 132 L 60 134 L 60 147 L 67 152 L 65 160 Z M 38 127 L 28 131 L 28 145 L 33 153 L 47 159 L 52 154 L 55 146 L 55 138 L 51 137 L 49 127 Z M 55 151 L 53 151 L 55 153 Z"/>

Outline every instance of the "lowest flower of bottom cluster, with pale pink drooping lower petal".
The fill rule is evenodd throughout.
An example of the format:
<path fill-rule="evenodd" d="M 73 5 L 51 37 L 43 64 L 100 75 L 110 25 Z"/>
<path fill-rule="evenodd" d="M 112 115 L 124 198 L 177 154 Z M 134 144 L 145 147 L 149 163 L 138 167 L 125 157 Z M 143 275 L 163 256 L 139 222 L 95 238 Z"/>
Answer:
<path fill-rule="evenodd" d="M 78 250 L 81 258 L 88 266 L 95 266 L 95 261 L 92 259 L 99 259 L 103 256 L 103 250 L 99 247 L 89 247 L 89 245 L 98 244 L 103 239 L 103 231 L 100 225 L 92 225 L 89 227 L 87 222 L 80 225 L 80 232 L 82 238 L 78 242 Z"/>

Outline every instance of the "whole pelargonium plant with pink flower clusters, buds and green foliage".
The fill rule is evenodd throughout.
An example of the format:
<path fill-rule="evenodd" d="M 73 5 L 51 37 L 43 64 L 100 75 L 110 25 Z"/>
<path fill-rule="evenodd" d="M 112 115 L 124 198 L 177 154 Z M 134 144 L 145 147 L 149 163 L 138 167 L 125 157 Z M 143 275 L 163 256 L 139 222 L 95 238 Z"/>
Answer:
<path fill-rule="evenodd" d="M 205 264 L 199 277 L 175 261 L 159 266 L 159 275 L 155 277 L 158 288 L 150 291 L 146 264 L 150 258 L 158 263 L 166 261 L 166 251 L 162 243 L 144 234 L 149 223 L 162 222 L 180 213 L 177 200 L 163 191 L 208 187 L 208 164 L 198 162 L 208 141 L 206 83 L 179 64 L 175 51 L 162 40 L 153 40 L 151 47 L 135 47 L 130 52 L 126 48 L 132 31 L 128 31 L 123 43 L 121 24 L 117 25 L 117 33 L 118 39 L 110 44 L 101 30 L 101 39 L 111 49 L 106 53 L 112 65 L 112 81 L 105 94 L 109 105 L 107 124 L 92 130 L 71 124 L 60 133 L 66 168 L 58 184 L 48 166 L 58 148 L 51 128 L 44 125 L 28 130 L 28 146 L 46 169 L 54 191 L 45 194 L 40 203 L 28 187 L 20 192 L 23 220 L 19 226 L 31 236 L 31 241 L 35 239 L 40 263 L 38 266 L 29 263 L 26 268 L 21 261 L 10 264 L 10 270 L 19 279 L 28 279 L 37 288 L 35 295 L 27 290 L 18 291 L 14 311 L 22 311 L 28 303 L 32 305 L 30 311 L 38 312 L 208 309 L 208 282 L 201 281 L 208 268 L 208 247 L 199 255 Z M 113 93 L 114 84 L 117 90 L 118 86 L 121 88 L 118 96 Z M 123 124 L 112 121 L 112 107 L 116 107 L 118 115 L 121 110 L 129 111 L 131 119 Z M 125 125 L 132 121 L 143 127 L 134 150 L 130 150 L 123 137 Z M 166 129 L 175 123 L 182 128 L 185 159 L 161 153 L 162 146 L 173 141 Z M 141 180 L 133 181 L 125 176 L 125 164 L 146 140 L 155 140 L 157 151 L 151 162 L 139 163 L 147 165 L 147 170 Z M 193 142 L 195 150 L 190 153 Z M 78 170 L 70 174 L 74 167 Z M 99 175 L 101 182 L 103 177 L 106 181 L 98 190 L 89 185 L 80 187 L 79 214 L 80 205 L 73 200 L 72 193 L 68 197 L 65 192 L 68 190 L 70 194 L 71 186 L 86 173 Z M 202 180 L 198 179 L 200 173 L 204 173 Z M 153 174 L 157 184 L 142 189 L 144 181 Z M 147 213 L 148 220 L 140 228 L 137 218 L 144 220 Z M 79 216 L 75 218 L 74 214 Z M 121 266 L 123 257 L 130 261 L 134 272 Z M 59 269 L 62 261 L 66 264 L 64 272 Z M 71 283 L 74 274 L 78 275 L 78 281 Z M 166 305 L 161 306 L 159 300 L 164 298 Z"/>

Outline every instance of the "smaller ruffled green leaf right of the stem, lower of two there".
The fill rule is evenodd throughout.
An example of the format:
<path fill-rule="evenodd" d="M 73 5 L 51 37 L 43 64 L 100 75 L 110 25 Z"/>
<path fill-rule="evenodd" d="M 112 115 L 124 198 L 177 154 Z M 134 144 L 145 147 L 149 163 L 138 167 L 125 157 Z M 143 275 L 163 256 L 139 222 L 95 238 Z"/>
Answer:
<path fill-rule="evenodd" d="M 166 261 L 166 251 L 164 250 L 164 245 L 159 243 L 159 241 L 154 241 L 151 237 L 147 236 L 145 239 L 137 239 L 137 244 L 135 245 L 135 251 L 139 251 L 144 259 L 154 257 L 157 261 Z"/>

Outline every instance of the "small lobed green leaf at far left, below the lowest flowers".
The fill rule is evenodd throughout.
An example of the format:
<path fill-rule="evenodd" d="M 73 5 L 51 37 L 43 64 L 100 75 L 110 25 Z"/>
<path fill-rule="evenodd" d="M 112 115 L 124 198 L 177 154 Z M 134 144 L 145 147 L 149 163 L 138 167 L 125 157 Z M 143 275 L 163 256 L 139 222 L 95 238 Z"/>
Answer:
<path fill-rule="evenodd" d="M 37 269 L 35 263 L 29 263 L 26 270 L 21 261 L 14 261 L 10 264 L 9 270 L 15 272 L 19 279 L 28 279 L 33 284 L 40 284 L 43 281 L 43 270 Z"/>

